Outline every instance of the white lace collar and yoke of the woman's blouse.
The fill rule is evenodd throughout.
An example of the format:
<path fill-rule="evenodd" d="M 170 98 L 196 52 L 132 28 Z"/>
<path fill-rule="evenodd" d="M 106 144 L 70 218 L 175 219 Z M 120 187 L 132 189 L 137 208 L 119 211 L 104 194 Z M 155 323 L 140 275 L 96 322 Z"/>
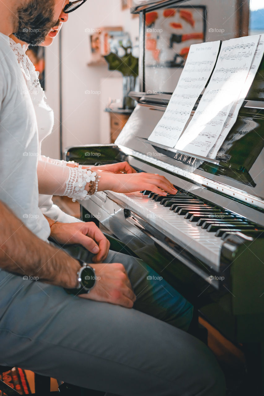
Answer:
<path fill-rule="evenodd" d="M 26 46 L 21 46 L 20 43 L 16 43 L 11 38 L 9 38 L 9 41 L 10 47 L 17 57 L 20 69 L 25 77 L 32 101 L 33 103 L 40 104 L 46 97 L 38 79 L 39 73 L 36 72 L 33 63 L 26 55 Z"/>

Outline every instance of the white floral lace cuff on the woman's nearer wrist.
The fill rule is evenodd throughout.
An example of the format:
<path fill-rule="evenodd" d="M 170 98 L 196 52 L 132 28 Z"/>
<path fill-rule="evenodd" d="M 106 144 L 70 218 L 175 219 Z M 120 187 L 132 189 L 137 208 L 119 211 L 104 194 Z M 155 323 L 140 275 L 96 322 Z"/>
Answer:
<path fill-rule="evenodd" d="M 73 202 L 76 202 L 77 199 L 80 201 L 88 200 L 90 195 L 96 194 L 98 191 L 100 177 L 90 169 L 82 169 L 81 165 L 78 168 L 69 167 L 69 178 L 63 195 L 73 198 Z M 89 191 L 84 189 L 87 183 L 90 183 Z"/>

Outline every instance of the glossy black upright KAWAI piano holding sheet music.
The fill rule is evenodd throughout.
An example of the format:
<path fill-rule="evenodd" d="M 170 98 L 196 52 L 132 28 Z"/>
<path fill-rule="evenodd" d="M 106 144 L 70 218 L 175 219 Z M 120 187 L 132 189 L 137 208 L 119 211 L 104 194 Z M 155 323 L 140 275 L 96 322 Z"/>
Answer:
<path fill-rule="evenodd" d="M 178 188 L 176 196 L 165 198 L 150 191 L 98 192 L 82 203 L 82 216 L 86 220 L 92 214 L 119 239 L 123 252 L 129 249 L 146 261 L 241 347 L 248 371 L 254 371 L 254 394 L 263 394 L 264 59 L 216 159 L 147 140 L 183 66 L 178 57 L 173 67 L 149 63 L 148 15 L 191 6 L 202 13 L 203 39 L 225 40 L 249 34 L 249 4 L 223 0 L 213 8 L 208 0 L 156 3 L 135 10 L 140 13 L 140 92 L 130 93 L 137 105 L 115 145 L 72 147 L 65 159 L 86 165 L 95 164 L 94 158 L 98 164 L 126 160 L 139 172 L 165 175 Z M 177 40 L 171 37 L 170 42 Z"/>

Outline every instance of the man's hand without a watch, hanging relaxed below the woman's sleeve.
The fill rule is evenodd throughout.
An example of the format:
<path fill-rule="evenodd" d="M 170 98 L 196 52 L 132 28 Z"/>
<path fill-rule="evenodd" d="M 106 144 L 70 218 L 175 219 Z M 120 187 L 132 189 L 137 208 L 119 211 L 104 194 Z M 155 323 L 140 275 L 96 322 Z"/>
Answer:
<path fill-rule="evenodd" d="M 93 222 L 50 223 L 50 231 L 52 238 L 59 244 L 80 244 L 96 254 L 92 259 L 94 263 L 101 263 L 108 255 L 110 242 Z"/>

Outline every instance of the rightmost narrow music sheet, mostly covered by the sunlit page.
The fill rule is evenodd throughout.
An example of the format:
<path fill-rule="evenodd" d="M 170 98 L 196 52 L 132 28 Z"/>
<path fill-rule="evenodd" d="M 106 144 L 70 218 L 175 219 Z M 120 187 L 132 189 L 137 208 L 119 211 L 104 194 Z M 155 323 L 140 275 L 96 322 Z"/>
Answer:
<path fill-rule="evenodd" d="M 224 143 L 224 140 L 226 139 L 230 129 L 235 124 L 235 122 L 237 120 L 238 112 L 239 112 L 241 106 L 243 105 L 243 101 L 245 100 L 245 97 L 247 96 L 249 88 L 251 87 L 253 80 L 256 76 L 256 72 L 258 71 L 258 67 L 262 60 L 263 53 L 264 53 L 264 34 L 260 34 L 260 39 L 259 39 L 256 51 L 255 51 L 255 54 L 253 57 L 252 65 L 249 70 L 249 74 L 247 76 L 245 85 L 241 91 L 239 100 L 236 103 L 234 103 L 234 105 L 230 111 L 230 114 L 228 114 L 228 118 L 227 118 L 226 122 L 224 123 L 224 127 L 221 131 L 221 134 L 209 152 L 208 156 L 210 158 L 216 158 L 216 154 L 218 153 L 220 147 Z"/>

